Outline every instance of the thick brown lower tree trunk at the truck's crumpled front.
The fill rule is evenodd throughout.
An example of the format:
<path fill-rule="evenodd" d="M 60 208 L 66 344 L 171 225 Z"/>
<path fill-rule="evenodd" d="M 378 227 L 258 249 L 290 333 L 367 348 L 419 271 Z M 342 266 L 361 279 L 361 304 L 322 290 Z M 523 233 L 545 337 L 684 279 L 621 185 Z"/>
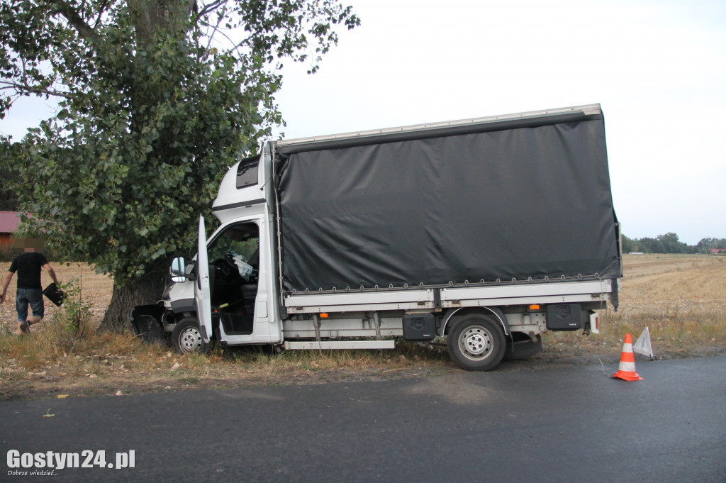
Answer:
<path fill-rule="evenodd" d="M 137 280 L 134 285 L 124 285 L 123 287 L 113 285 L 111 301 L 99 330 L 110 332 L 133 330 L 131 320 L 129 320 L 129 311 L 135 305 L 158 302 L 166 282 L 166 272 L 152 272 Z"/>

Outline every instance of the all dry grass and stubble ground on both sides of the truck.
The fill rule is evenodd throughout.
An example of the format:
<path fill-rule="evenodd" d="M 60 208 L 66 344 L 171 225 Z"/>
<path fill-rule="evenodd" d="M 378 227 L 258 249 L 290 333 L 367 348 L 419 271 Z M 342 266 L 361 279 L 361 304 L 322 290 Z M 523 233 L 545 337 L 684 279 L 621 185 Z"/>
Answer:
<path fill-rule="evenodd" d="M 625 256 L 620 309 L 603 312 L 600 335 L 547 333 L 541 354 L 503 362 L 499 370 L 617 362 L 624 335 L 631 333 L 635 340 L 646 326 L 658 357 L 722 354 L 725 258 Z M 28 337 L 15 335 L 15 283 L 9 288 L 0 313 L 0 399 L 375 380 L 457 370 L 441 349 L 412 343 L 394 351 L 280 354 L 260 347 L 216 347 L 206 356 L 182 356 L 130 334 L 96 333 L 92 329 L 110 300 L 110 278 L 82 264 L 53 265 L 63 283 L 72 283 L 74 295 L 65 309 L 46 304 L 44 323 L 34 325 Z M 7 266 L 0 264 L 0 272 Z M 44 277 L 46 285 L 50 280 Z M 82 309 L 80 333 L 68 307 Z"/>

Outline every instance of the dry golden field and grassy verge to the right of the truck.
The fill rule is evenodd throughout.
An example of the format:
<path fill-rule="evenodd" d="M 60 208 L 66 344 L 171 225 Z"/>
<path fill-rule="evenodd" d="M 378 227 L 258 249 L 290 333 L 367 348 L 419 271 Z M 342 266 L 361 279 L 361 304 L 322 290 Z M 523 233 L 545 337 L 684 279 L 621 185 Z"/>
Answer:
<path fill-rule="evenodd" d="M 726 257 L 626 255 L 624 272 L 619 310 L 601 314 L 600 335 L 548 333 L 550 352 L 619 356 L 625 334 L 635 342 L 646 327 L 656 357 L 726 352 Z"/>

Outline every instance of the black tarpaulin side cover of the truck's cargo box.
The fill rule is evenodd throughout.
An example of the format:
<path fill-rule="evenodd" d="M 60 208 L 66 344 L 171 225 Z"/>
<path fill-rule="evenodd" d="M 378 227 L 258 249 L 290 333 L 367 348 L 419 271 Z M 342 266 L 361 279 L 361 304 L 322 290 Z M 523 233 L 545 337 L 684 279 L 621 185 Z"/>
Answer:
<path fill-rule="evenodd" d="M 599 110 L 276 161 L 285 291 L 620 276 Z"/>

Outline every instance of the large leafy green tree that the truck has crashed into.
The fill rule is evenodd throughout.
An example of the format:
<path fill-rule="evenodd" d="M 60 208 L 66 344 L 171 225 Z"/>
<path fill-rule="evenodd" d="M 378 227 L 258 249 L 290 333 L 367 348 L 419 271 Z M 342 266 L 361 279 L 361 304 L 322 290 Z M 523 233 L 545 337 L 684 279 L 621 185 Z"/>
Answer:
<path fill-rule="evenodd" d="M 219 177 L 282 123 L 282 60 L 314 72 L 354 28 L 333 0 L 4 0 L 0 117 L 60 100 L 12 156 L 30 234 L 115 280 L 105 328 L 193 253 Z"/>

